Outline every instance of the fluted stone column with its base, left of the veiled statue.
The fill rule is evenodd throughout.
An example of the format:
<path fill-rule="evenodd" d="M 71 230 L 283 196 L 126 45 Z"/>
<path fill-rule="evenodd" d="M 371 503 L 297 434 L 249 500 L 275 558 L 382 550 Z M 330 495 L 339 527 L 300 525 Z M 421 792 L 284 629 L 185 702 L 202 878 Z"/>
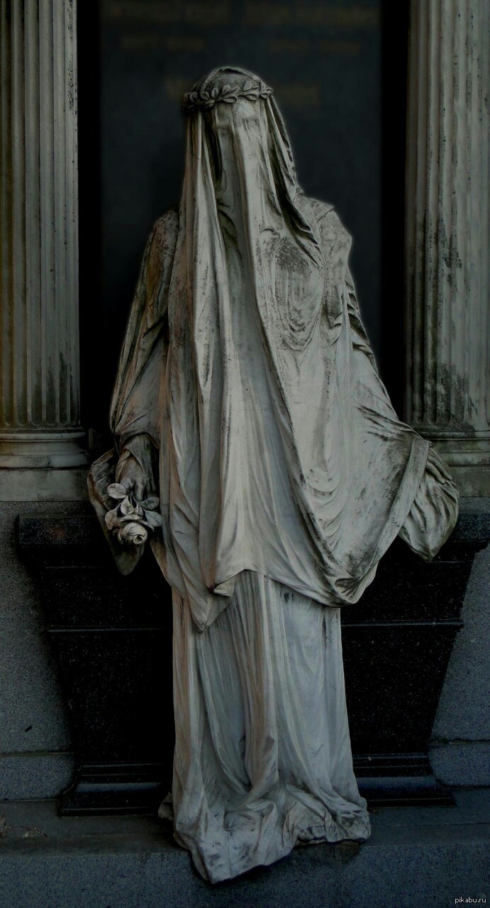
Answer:
<path fill-rule="evenodd" d="M 86 462 L 76 0 L 0 0 L 0 8 L 0 469 L 14 474 Z"/>

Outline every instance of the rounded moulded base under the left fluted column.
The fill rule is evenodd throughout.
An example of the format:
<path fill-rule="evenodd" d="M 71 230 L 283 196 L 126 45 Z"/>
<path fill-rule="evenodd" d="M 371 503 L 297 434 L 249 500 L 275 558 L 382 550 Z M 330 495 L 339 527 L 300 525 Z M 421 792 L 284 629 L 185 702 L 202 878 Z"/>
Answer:
<path fill-rule="evenodd" d="M 88 455 L 82 429 L 0 429 L 0 469 L 83 467 Z"/>

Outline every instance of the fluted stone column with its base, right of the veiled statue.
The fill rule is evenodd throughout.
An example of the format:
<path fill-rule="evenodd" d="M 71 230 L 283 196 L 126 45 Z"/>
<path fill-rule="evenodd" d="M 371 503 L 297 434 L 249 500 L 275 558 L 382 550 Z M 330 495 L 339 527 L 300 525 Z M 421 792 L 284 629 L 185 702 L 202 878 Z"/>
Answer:
<path fill-rule="evenodd" d="M 412 0 L 407 421 L 490 495 L 487 0 Z"/>

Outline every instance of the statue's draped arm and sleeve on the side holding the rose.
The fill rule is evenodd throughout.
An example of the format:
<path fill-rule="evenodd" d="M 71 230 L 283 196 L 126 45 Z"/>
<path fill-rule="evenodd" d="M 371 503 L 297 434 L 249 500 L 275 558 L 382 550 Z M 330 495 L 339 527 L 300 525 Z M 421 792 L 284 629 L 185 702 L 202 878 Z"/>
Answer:
<path fill-rule="evenodd" d="M 121 508 L 126 511 L 128 501 L 134 504 L 134 498 L 147 508 L 155 508 L 145 499 L 158 489 L 159 398 L 168 350 L 168 290 L 177 232 L 177 212 L 166 212 L 146 244 L 113 392 L 111 428 L 116 449 L 95 460 L 88 477 L 90 499 L 123 574 L 134 568 L 142 554 L 142 532 L 135 518 L 134 527 L 127 522 L 125 525 L 127 531 L 138 531 L 134 538 L 124 540 L 133 545 L 122 546 L 121 539 L 115 538 L 115 533 L 122 533 L 122 520 L 118 523 L 113 517 L 114 506 L 123 494 L 113 484 L 119 483 L 126 494 L 132 493 L 131 500 L 122 502 Z M 155 524 L 156 519 L 145 512 L 145 525 L 148 521 Z"/>

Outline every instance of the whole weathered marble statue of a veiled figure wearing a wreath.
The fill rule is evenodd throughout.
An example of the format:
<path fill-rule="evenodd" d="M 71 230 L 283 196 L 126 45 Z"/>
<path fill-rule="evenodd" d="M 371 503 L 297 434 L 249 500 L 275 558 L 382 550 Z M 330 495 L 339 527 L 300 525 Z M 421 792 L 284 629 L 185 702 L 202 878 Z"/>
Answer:
<path fill-rule="evenodd" d="M 458 497 L 391 407 L 350 238 L 299 189 L 270 88 L 220 68 L 184 109 L 181 205 L 144 253 L 117 453 L 90 489 L 122 572 L 148 536 L 172 587 L 176 745 L 160 813 L 216 883 L 295 844 L 368 838 L 338 607 L 358 602 L 397 535 L 432 558 Z"/>

